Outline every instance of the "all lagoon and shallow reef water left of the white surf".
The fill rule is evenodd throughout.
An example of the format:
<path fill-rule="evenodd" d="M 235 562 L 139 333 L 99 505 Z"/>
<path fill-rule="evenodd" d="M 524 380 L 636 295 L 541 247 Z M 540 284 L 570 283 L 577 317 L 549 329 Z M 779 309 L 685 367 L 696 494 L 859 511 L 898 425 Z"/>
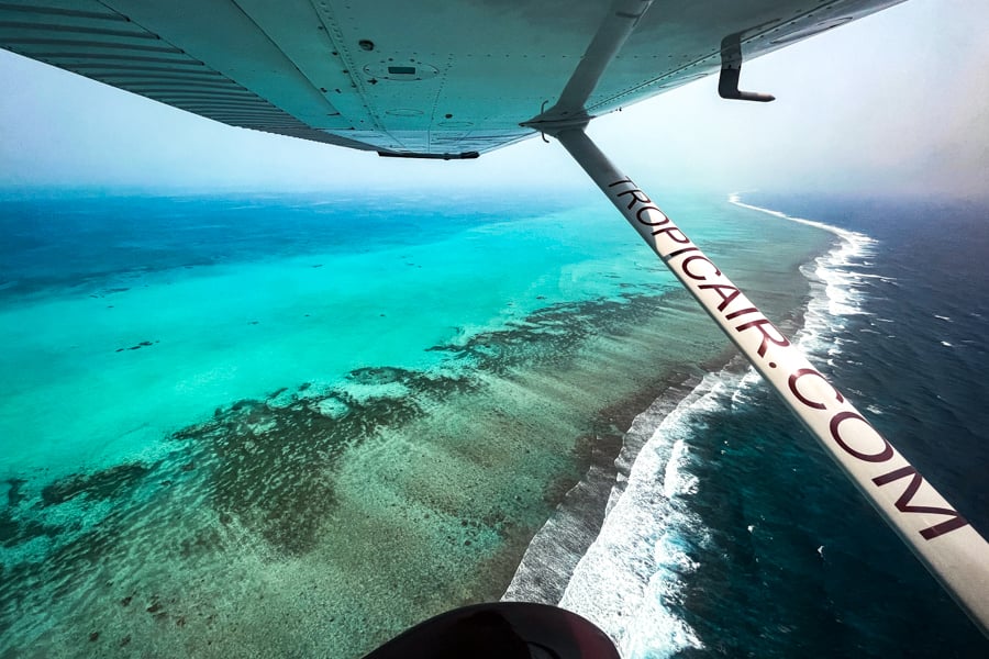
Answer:
<path fill-rule="evenodd" d="M 500 596 L 726 353 L 596 198 L 460 201 L 5 202 L 2 656 L 351 657 Z M 667 210 L 799 320 L 829 236 Z"/>

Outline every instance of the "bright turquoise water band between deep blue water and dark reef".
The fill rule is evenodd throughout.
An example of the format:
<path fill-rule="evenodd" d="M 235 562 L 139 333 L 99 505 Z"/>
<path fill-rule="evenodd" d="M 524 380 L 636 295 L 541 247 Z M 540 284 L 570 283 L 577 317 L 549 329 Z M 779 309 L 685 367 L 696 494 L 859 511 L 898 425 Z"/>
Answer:
<path fill-rule="evenodd" d="M 175 203 L 188 213 L 188 201 Z M 158 205 L 159 216 L 146 220 L 167 225 L 174 209 Z M 85 225 L 86 215 L 73 219 Z M 421 230 L 419 243 L 401 245 L 387 236 L 400 217 L 378 226 L 356 220 L 365 220 L 365 232 L 342 220 L 356 233 L 353 250 L 321 253 L 319 242 L 330 233 L 313 236 L 311 254 L 273 258 L 262 237 L 256 254 L 245 249 L 249 260 L 146 271 L 158 265 L 149 242 L 146 254 L 137 249 L 152 261 L 141 269 L 101 272 L 81 290 L 54 287 L 30 302 L 12 300 L 0 316 L 0 340 L 18 349 L 4 356 L 11 377 L 0 395 L 3 434 L 19 440 L 0 469 L 113 463 L 216 405 L 287 384 L 330 386 L 369 364 L 426 367 L 438 355 L 423 348 L 501 327 L 553 302 L 613 293 L 613 278 L 651 279 L 634 260 L 615 258 L 623 236 L 613 230 L 621 227 L 601 223 L 593 244 L 579 239 L 592 228 L 579 213 L 512 217 L 511 225 L 488 217 L 438 239 Z M 201 239 L 251 239 L 231 233 Z M 379 233 L 386 234 L 380 244 Z M 116 245 L 84 248 L 112 254 Z"/>

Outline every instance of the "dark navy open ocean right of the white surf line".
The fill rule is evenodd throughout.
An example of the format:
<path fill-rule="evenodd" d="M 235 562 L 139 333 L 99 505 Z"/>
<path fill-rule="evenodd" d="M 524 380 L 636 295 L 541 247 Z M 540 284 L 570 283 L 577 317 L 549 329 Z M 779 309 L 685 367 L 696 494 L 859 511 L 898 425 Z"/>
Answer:
<path fill-rule="evenodd" d="M 747 194 L 873 238 L 812 361 L 989 535 L 989 209 Z M 851 300 L 851 302 L 849 302 Z M 679 656 L 986 657 L 984 638 L 764 386 L 698 412 Z M 703 528 L 702 532 L 699 528 Z M 820 548 L 820 551 L 819 551 Z M 989 593 L 986 593 L 989 597 Z"/>

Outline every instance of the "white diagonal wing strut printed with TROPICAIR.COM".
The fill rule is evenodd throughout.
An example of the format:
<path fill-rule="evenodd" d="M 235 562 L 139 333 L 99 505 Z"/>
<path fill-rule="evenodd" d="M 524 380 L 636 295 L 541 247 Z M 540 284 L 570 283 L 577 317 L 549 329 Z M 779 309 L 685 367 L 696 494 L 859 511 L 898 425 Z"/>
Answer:
<path fill-rule="evenodd" d="M 989 637 L 989 544 L 585 134 L 545 124 Z"/>

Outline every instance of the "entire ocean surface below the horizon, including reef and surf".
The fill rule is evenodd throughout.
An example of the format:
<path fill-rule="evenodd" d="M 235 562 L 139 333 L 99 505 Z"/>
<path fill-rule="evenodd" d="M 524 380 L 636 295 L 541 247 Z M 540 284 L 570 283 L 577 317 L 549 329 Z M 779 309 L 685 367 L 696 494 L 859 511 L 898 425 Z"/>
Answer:
<path fill-rule="evenodd" d="M 989 211 L 654 196 L 989 534 Z M 512 197 L 0 201 L 0 657 L 987 655 L 603 198 Z"/>

